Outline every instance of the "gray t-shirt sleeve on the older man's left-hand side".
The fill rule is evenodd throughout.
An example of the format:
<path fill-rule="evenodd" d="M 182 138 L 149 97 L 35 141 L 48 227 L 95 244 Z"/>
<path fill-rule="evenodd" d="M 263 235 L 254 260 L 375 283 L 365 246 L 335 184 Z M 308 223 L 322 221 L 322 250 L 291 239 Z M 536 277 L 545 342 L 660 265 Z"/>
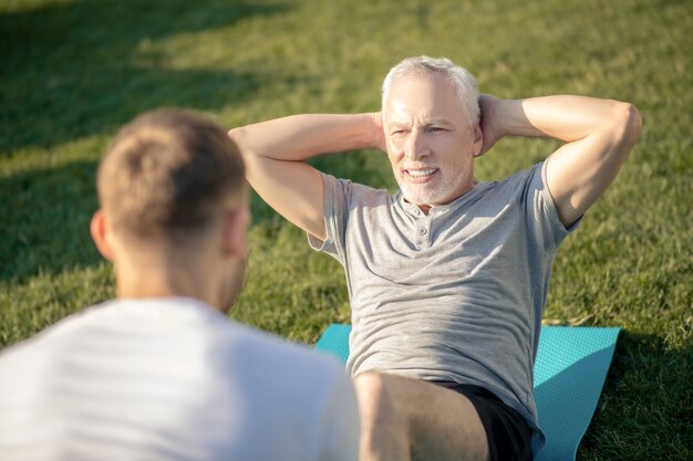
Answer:
<path fill-rule="evenodd" d="M 349 209 L 348 202 L 352 182 L 346 179 L 337 179 L 332 175 L 321 172 L 323 190 L 324 228 L 328 237 L 324 241 L 308 234 L 308 243 L 313 250 L 322 251 L 344 264 L 344 230 Z"/>

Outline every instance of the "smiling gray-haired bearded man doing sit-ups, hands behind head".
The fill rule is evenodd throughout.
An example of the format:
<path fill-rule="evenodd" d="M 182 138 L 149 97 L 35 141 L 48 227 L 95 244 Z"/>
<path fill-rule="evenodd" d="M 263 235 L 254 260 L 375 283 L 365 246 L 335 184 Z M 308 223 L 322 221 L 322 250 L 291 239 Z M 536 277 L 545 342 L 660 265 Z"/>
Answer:
<path fill-rule="evenodd" d="M 345 270 L 363 460 L 528 460 L 544 443 L 532 368 L 558 245 L 616 178 L 634 106 L 581 96 L 479 96 L 447 59 L 411 57 L 382 111 L 298 115 L 229 132 L 248 179 Z M 565 144 L 509 178 L 474 159 L 504 136 Z M 386 151 L 400 191 L 304 160 Z"/>

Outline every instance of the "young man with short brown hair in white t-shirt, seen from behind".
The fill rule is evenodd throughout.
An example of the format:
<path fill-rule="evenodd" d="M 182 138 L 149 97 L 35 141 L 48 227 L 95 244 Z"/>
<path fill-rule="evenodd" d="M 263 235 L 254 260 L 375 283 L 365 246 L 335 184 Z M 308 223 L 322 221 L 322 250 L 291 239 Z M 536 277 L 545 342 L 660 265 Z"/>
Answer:
<path fill-rule="evenodd" d="M 229 322 L 250 221 L 236 145 L 199 114 L 125 126 L 91 233 L 116 300 L 0 355 L 0 459 L 355 460 L 339 363 Z"/>

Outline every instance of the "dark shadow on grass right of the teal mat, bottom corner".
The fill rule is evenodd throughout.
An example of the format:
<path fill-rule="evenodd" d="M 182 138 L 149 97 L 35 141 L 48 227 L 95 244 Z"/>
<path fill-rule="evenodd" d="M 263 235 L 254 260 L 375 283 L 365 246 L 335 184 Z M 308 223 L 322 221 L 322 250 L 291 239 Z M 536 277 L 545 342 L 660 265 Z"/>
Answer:
<path fill-rule="evenodd" d="M 578 459 L 691 459 L 693 344 L 621 332 Z"/>

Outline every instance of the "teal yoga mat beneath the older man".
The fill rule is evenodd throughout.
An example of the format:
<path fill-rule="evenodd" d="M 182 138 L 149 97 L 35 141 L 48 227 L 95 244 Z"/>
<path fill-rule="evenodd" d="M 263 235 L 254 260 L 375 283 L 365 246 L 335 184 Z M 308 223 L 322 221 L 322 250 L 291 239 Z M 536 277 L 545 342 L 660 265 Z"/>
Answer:
<path fill-rule="evenodd" d="M 575 461 L 594 415 L 621 328 L 544 326 L 535 362 L 535 400 L 546 446 L 536 461 Z M 332 324 L 316 348 L 342 363 L 351 325 Z"/>

